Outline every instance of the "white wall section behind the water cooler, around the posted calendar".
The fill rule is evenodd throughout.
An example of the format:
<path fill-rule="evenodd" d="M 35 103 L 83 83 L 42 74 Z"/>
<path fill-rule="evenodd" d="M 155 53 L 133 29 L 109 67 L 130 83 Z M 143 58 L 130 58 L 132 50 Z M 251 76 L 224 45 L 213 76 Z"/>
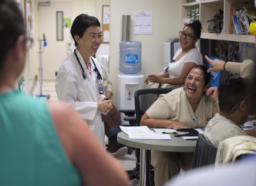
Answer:
<path fill-rule="evenodd" d="M 152 11 L 153 34 L 134 35 L 134 11 Z M 117 105 L 119 42 L 122 37 L 122 15 L 131 15 L 130 40 L 142 43 L 140 74 L 159 74 L 163 70 L 163 42 L 178 37 L 181 28 L 180 0 L 110 0 L 110 78 L 113 104 Z M 144 88 L 150 88 L 144 84 Z"/>

